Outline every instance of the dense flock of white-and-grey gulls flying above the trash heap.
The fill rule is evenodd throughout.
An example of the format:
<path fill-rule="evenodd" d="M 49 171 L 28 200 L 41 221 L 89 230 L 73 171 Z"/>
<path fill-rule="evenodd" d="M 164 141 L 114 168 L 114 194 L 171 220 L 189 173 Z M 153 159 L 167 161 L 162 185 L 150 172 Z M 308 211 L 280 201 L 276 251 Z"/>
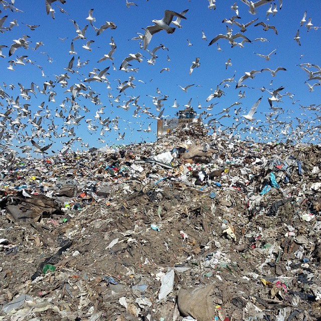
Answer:
<path fill-rule="evenodd" d="M 60 11 L 63 15 L 68 15 L 67 11 L 64 10 L 63 6 L 68 0 L 43 0 L 46 8 L 47 15 L 50 15 L 52 19 L 55 19 L 56 11 Z M 148 1 L 148 0 L 147 0 Z M 189 0 L 190 1 L 190 0 Z M 266 22 L 259 22 L 258 18 L 249 21 L 248 23 L 241 23 L 241 18 L 239 16 L 239 8 L 237 2 L 231 6 L 231 10 L 235 13 L 229 19 L 224 19 L 223 23 L 226 24 L 226 33 L 218 34 L 211 41 L 209 41 L 208 46 L 212 46 L 216 43 L 217 50 L 223 51 L 219 46 L 219 41 L 227 41 L 231 47 L 240 47 L 243 48 L 247 43 L 254 42 L 266 42 L 266 38 L 257 38 L 249 39 L 246 36 L 247 29 L 253 25 L 254 28 L 261 28 L 262 32 L 270 32 L 278 35 L 276 26 L 269 25 L 269 18 L 275 16 L 282 9 L 282 0 L 259 0 L 257 2 L 252 2 L 248 0 L 239 0 L 240 5 L 246 6 L 251 15 L 255 15 L 257 10 L 261 7 L 266 7 L 266 17 L 268 20 Z M 19 26 L 19 21 L 17 19 L 12 19 L 12 22 L 9 22 L 9 15 L 13 16 L 17 12 L 22 12 L 16 7 L 15 2 L 17 0 L 0 0 L 0 32 L 7 33 L 17 28 Z M 202 4 L 201 4 L 202 3 Z M 60 6 L 59 6 L 59 5 Z M 124 2 L 124 5 L 127 8 L 137 6 L 133 2 Z M 207 6 L 209 10 L 216 10 L 215 0 L 199 0 L 198 6 L 204 5 Z M 1 7 L 2 6 L 2 7 Z M 240 6 L 241 7 L 241 6 Z M 130 9 L 129 9 L 130 10 Z M 192 11 L 192 10 L 191 10 Z M 8 12 L 9 14 L 6 14 Z M 93 28 L 96 37 L 103 34 L 106 30 L 116 29 L 117 26 L 112 22 L 106 21 L 100 27 L 96 27 L 96 18 L 94 17 L 94 9 L 89 10 L 88 17 L 86 18 L 86 25 L 83 28 L 80 28 L 77 22 L 73 19 L 69 19 L 69 23 L 72 24 L 75 28 L 75 37 L 70 42 L 70 51 L 69 54 L 72 56 L 68 65 L 64 68 L 61 68 L 59 75 L 46 76 L 44 68 L 40 65 L 37 65 L 35 61 L 32 61 L 28 56 L 28 51 L 40 51 L 45 43 L 42 41 L 35 42 L 33 48 L 31 47 L 32 38 L 28 35 L 23 35 L 21 38 L 13 40 L 11 44 L 1 44 L 0 45 L 0 59 L 5 59 L 7 56 L 9 59 L 9 66 L 7 67 L 10 71 L 15 71 L 17 66 L 23 66 L 25 64 L 32 64 L 40 68 L 42 76 L 45 78 L 45 81 L 42 84 L 36 84 L 32 82 L 30 86 L 26 87 L 22 84 L 22 81 L 19 81 L 18 84 L 7 84 L 5 79 L 2 79 L 3 84 L 0 84 L 0 144 L 1 144 L 1 163 L 6 170 L 10 170 L 11 159 L 13 157 L 12 150 L 19 150 L 21 153 L 30 154 L 31 152 L 36 152 L 39 154 L 48 154 L 49 152 L 60 152 L 65 154 L 70 150 L 70 148 L 78 143 L 82 147 L 88 147 L 88 142 L 86 142 L 86 132 L 90 134 L 93 132 L 100 131 L 100 138 L 98 141 L 100 143 L 105 143 L 106 137 L 108 137 L 108 132 L 114 130 L 118 133 L 117 140 L 122 141 L 125 138 L 125 131 L 120 132 L 119 121 L 123 120 L 126 123 L 127 128 L 133 131 L 138 132 L 151 132 L 151 122 L 150 119 L 162 119 L 163 113 L 165 111 L 165 103 L 168 101 L 169 95 L 163 95 L 161 90 L 156 88 L 155 95 L 146 95 L 151 98 L 153 109 L 151 107 L 146 107 L 145 104 L 139 103 L 140 96 L 127 95 L 129 88 L 134 89 L 135 77 L 133 76 L 138 72 L 138 68 L 134 68 L 133 65 L 136 62 L 141 63 L 146 61 L 147 65 L 154 65 L 156 59 L 158 58 L 160 52 L 165 52 L 167 56 L 167 61 L 170 61 L 169 57 L 169 48 L 166 45 L 161 44 L 154 47 L 152 50 L 150 46 L 152 43 L 157 41 L 158 32 L 166 32 L 167 34 L 173 34 L 176 29 L 182 29 L 184 32 L 184 22 L 187 19 L 190 19 L 188 16 L 191 12 L 185 10 L 181 13 L 177 13 L 171 10 L 166 10 L 164 17 L 161 20 L 151 20 L 151 26 L 142 28 L 142 33 L 136 33 L 136 36 L 132 40 L 137 41 L 139 48 L 142 51 L 135 54 L 128 54 L 122 61 L 119 68 L 117 68 L 114 63 L 114 55 L 116 53 L 116 41 L 113 36 L 110 37 L 110 50 L 107 50 L 108 53 L 104 54 L 97 62 L 95 62 L 95 67 L 88 73 L 84 75 L 81 73 L 81 69 L 85 66 L 89 66 L 93 62 L 90 60 L 82 61 L 81 57 L 78 56 L 75 50 L 76 42 L 83 42 L 82 48 L 88 52 L 92 51 L 90 47 L 96 40 L 87 40 L 86 32 L 88 28 Z M 45 10 L 44 10 L 45 14 Z M 159 13 L 162 15 L 162 13 Z M 305 11 L 301 21 L 298 23 L 299 28 L 293 40 L 297 45 L 301 46 L 300 43 L 300 32 L 302 33 L 302 28 L 306 28 L 306 31 L 311 30 L 317 31 L 320 27 L 313 26 L 311 23 L 311 18 L 308 18 L 306 21 Z M 31 19 L 32 17 L 29 17 Z M 191 18 L 192 19 L 192 18 Z M 48 22 L 50 23 L 50 21 Z M 24 23 L 22 23 L 24 24 Z M 40 26 L 32 24 L 24 24 L 34 31 Z M 234 33 L 233 29 L 238 30 Z M 202 32 L 202 40 L 208 41 L 207 36 Z M 174 36 L 172 36 L 174 37 Z M 62 42 L 66 41 L 67 38 L 59 38 Z M 238 42 L 241 41 L 241 42 Z M 193 46 L 193 44 L 188 40 L 187 46 Z M 23 49 L 27 50 L 26 55 L 21 55 Z M 149 48 L 149 49 L 147 49 Z M 255 55 L 263 58 L 265 61 L 269 61 L 273 55 L 276 54 L 277 49 L 271 51 L 269 54 L 259 54 L 254 52 Z M 14 60 L 13 55 L 17 54 L 17 58 Z M 44 53 L 47 54 L 47 53 Z M 77 58 L 78 56 L 78 58 Z M 146 58 L 147 56 L 148 58 Z M 48 55 L 48 62 L 52 63 L 53 59 Z M 110 62 L 110 66 L 105 68 L 100 68 L 102 62 Z M 112 82 L 108 80 L 108 70 L 112 66 L 114 71 L 117 72 L 126 72 L 129 73 L 129 77 L 121 81 L 120 79 L 115 79 L 118 82 L 116 87 L 118 93 L 113 95 Z M 200 57 L 196 57 L 195 60 L 189 66 L 189 75 L 191 75 L 195 69 L 199 68 Z M 225 63 L 226 70 L 232 66 L 231 59 L 228 59 Z M 99 67 L 99 68 L 98 68 Z M 318 65 L 310 63 L 301 63 L 299 67 L 302 71 L 306 73 L 307 79 L 305 83 L 308 86 L 309 91 L 313 91 L 315 87 L 321 85 L 321 68 Z M 216 89 L 213 89 L 211 94 L 206 99 L 206 102 L 211 101 L 215 98 L 216 101 L 219 101 L 221 97 L 225 95 L 225 88 L 235 84 L 235 88 L 239 90 L 239 99 L 231 104 L 229 107 L 223 108 L 223 110 L 217 110 L 216 114 L 212 114 L 213 107 L 218 104 L 211 103 L 208 106 L 202 106 L 201 103 L 198 103 L 197 108 L 203 109 L 199 113 L 199 117 L 203 117 L 205 126 L 209 129 L 212 129 L 216 133 L 228 133 L 231 137 L 241 137 L 242 135 L 251 134 L 257 135 L 257 139 L 266 140 L 266 139 L 278 139 L 279 137 L 290 137 L 294 140 L 306 140 L 306 141 L 315 141 L 319 137 L 319 129 L 321 125 L 319 124 L 321 116 L 319 114 L 320 106 L 311 104 L 309 106 L 300 105 L 302 109 L 302 115 L 306 116 L 306 112 L 312 112 L 312 115 L 304 119 L 304 117 L 299 117 L 299 115 L 294 115 L 296 120 L 293 120 L 291 113 L 293 113 L 292 108 L 284 110 L 279 106 L 274 104 L 277 102 L 282 102 L 282 97 L 287 96 L 291 99 L 292 104 L 296 104 L 299 100 L 295 100 L 295 94 L 290 92 L 284 92 L 285 87 L 281 86 L 276 89 L 266 89 L 262 88 L 252 88 L 250 87 L 251 80 L 260 73 L 267 73 L 272 77 L 277 77 L 279 72 L 286 72 L 286 68 L 280 66 L 275 70 L 270 68 L 263 68 L 259 70 L 250 70 L 245 72 L 245 74 L 240 77 L 238 80 L 235 79 L 235 74 L 230 77 L 220 81 L 220 84 L 217 85 Z M 170 72 L 170 68 L 163 68 L 161 73 Z M 75 80 L 77 79 L 77 80 Z M 144 83 L 142 80 L 138 82 Z M 105 83 L 106 90 L 102 93 L 98 92 L 92 86 L 96 83 Z M 272 82 L 270 83 L 272 86 Z M 62 101 L 56 101 L 57 88 L 63 88 L 64 90 L 64 99 Z M 182 91 L 188 92 L 189 88 L 192 86 L 200 86 L 197 84 L 189 84 L 185 87 L 178 85 Z M 17 88 L 20 91 L 20 94 L 14 98 L 12 96 L 12 91 Z M 244 108 L 243 113 L 241 111 L 242 107 L 240 106 L 242 102 L 240 101 L 245 97 L 245 88 L 258 89 L 261 92 L 268 92 L 270 97 L 267 99 L 270 110 L 264 114 L 265 120 L 261 121 L 256 119 L 257 108 L 262 100 L 260 97 L 251 108 Z M 320 88 L 321 89 L 321 88 Z M 102 95 L 101 95 L 102 94 Z M 44 101 L 38 106 L 32 106 L 32 99 L 36 98 L 39 95 L 43 95 Z M 117 108 L 121 108 L 127 112 L 134 109 L 131 112 L 131 116 L 134 120 L 131 119 L 122 119 L 119 116 L 104 117 L 106 104 L 102 102 L 101 96 L 108 97 L 108 110 L 114 108 L 116 111 Z M 87 118 L 86 113 L 92 110 L 92 108 L 86 107 L 86 104 L 83 103 L 82 99 L 94 104 L 96 108 L 96 114 L 93 117 L 94 119 Z M 257 99 L 257 98 L 256 98 Z M 46 103 L 46 101 L 48 102 Z M 253 101 L 255 98 L 253 99 Z M 189 102 L 184 105 L 184 107 L 191 107 L 192 98 Z M 49 107 L 50 106 L 50 107 Z M 174 100 L 174 104 L 171 106 L 173 108 L 179 107 L 177 99 Z M 168 108 L 168 107 L 166 107 Z M 196 108 L 196 106 L 195 106 Z M 36 111 L 34 110 L 36 109 Z M 249 109 L 249 110 L 248 110 Z M 214 109 L 215 110 L 215 109 Z M 248 110 L 248 112 L 246 112 Z M 117 113 L 117 112 L 115 112 Z M 144 116 L 145 120 L 138 122 L 138 118 L 141 119 Z M 112 119 L 111 119 L 112 118 Z M 223 118 L 233 119 L 232 125 L 224 125 L 222 123 Z M 287 118 L 290 118 L 288 120 Z M 131 129 L 130 124 L 136 121 L 139 124 L 139 129 Z M 294 123 L 297 121 L 297 123 Z M 81 125 L 82 131 L 79 134 L 78 126 Z M 86 131 L 83 129 L 84 125 L 86 126 Z M 243 128 L 242 128 L 243 127 Z M 275 128 L 278 128 L 275 130 Z M 136 134 L 137 136 L 139 133 Z M 269 137 L 270 135 L 270 137 Z M 143 139 L 143 136 L 140 136 Z M 52 145 L 54 142 L 60 141 L 63 144 L 62 148 L 58 150 L 52 150 Z"/>

